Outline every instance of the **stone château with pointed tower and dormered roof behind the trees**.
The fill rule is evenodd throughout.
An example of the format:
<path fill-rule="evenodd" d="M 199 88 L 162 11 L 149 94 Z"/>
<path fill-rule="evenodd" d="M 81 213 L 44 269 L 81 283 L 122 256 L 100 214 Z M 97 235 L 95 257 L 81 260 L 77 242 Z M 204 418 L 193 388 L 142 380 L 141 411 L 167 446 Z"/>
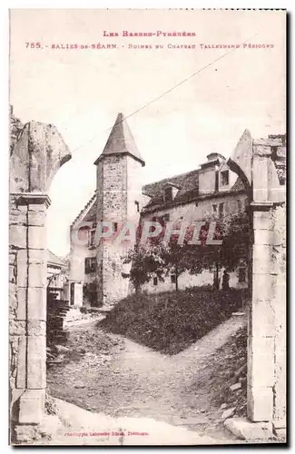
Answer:
<path fill-rule="evenodd" d="M 249 133 L 245 131 L 241 140 Z M 144 161 L 123 114 L 118 114 L 103 153 L 96 165 L 96 191 L 71 226 L 71 304 L 82 305 L 86 298 L 92 305 L 109 306 L 132 291 L 128 267 L 123 257 L 133 242 L 115 242 L 126 222 L 157 221 L 197 222 L 209 215 L 226 216 L 243 212 L 247 192 L 241 179 L 226 164 L 220 153 L 211 153 L 207 161 L 189 173 L 183 173 L 151 184 L 142 184 Z M 113 241 L 99 242 L 97 222 L 112 222 Z M 76 241 L 76 239 L 84 241 Z M 230 286 L 248 285 L 247 264 L 231 272 Z M 220 273 L 221 275 L 221 273 Z M 213 272 L 192 276 L 183 273 L 179 288 L 211 285 Z M 174 276 L 162 282 L 156 276 L 144 286 L 145 291 L 174 288 Z"/>

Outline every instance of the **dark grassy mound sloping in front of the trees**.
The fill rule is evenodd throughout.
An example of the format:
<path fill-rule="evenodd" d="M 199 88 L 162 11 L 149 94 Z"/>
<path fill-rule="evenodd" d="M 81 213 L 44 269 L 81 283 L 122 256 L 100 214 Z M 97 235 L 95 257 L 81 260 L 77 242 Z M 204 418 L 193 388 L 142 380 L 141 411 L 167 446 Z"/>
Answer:
<path fill-rule="evenodd" d="M 133 294 L 98 323 L 152 350 L 173 355 L 189 347 L 238 311 L 246 298 L 241 290 L 210 291 L 200 287 L 157 294 Z"/>

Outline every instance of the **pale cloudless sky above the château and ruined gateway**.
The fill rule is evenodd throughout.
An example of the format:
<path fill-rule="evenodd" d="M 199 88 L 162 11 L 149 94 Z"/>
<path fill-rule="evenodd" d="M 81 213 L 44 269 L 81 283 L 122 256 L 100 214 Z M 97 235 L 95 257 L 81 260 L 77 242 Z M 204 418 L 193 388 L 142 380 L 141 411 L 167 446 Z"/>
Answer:
<path fill-rule="evenodd" d="M 23 123 L 54 123 L 72 153 L 49 190 L 49 249 L 69 252 L 69 226 L 93 195 L 93 163 L 119 112 L 145 160 L 143 184 L 191 171 L 212 152 L 229 157 L 246 128 L 254 138 L 285 133 L 284 21 L 261 10 L 12 10 L 10 104 Z M 208 47 L 245 41 L 272 47 Z M 117 48 L 52 48 L 99 43 Z"/>

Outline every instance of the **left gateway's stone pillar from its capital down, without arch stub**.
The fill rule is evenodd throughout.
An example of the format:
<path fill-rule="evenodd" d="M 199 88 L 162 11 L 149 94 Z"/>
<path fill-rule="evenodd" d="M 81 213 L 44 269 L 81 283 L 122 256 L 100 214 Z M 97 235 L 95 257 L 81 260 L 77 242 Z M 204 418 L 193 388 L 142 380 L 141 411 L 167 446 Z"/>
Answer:
<path fill-rule="evenodd" d="M 49 198 L 44 193 L 11 194 L 10 248 L 16 264 L 14 290 L 18 305 L 10 320 L 17 351 L 13 418 L 38 424 L 44 414 L 46 386 L 46 238 Z M 18 428 L 18 431 L 21 429 Z"/>

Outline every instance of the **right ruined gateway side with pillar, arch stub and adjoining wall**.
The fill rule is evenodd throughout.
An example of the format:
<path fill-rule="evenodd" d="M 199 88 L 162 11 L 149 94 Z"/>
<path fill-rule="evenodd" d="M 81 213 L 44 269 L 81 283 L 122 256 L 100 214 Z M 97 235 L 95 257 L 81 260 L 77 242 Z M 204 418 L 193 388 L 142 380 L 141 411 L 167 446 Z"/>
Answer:
<path fill-rule="evenodd" d="M 252 140 L 245 131 L 228 161 L 248 189 L 251 205 L 247 413 L 257 427 L 273 429 L 282 437 L 286 429 L 285 140 L 285 136 Z"/>

